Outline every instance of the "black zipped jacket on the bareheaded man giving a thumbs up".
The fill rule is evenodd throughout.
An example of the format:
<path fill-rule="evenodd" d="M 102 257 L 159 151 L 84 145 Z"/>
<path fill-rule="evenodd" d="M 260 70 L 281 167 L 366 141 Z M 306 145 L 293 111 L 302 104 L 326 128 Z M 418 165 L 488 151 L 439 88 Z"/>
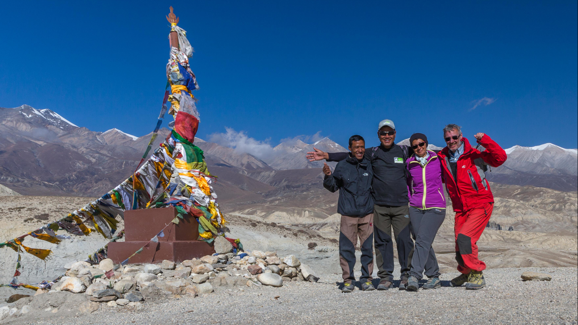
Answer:
<path fill-rule="evenodd" d="M 339 190 L 337 212 L 344 216 L 365 217 L 373 212 L 371 183 L 373 170 L 368 158 L 348 157 L 339 161 L 334 172 L 323 180 L 325 189 Z"/>

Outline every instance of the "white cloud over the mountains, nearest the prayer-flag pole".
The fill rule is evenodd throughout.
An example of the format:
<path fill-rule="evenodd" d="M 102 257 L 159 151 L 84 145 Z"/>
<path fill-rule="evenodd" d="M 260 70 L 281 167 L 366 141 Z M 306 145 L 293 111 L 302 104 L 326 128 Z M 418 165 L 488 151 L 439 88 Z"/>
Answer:
<path fill-rule="evenodd" d="M 221 146 L 230 147 L 239 153 L 249 153 L 264 160 L 273 155 L 273 147 L 269 144 L 269 139 L 258 141 L 250 138 L 244 131 L 235 131 L 233 128 L 225 127 L 225 133 L 213 133 L 209 136 L 209 141 Z"/>

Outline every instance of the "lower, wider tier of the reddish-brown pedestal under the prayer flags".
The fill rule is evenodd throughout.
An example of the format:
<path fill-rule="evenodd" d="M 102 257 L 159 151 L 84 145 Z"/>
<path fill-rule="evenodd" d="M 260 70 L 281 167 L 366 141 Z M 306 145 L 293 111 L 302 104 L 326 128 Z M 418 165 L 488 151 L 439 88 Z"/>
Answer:
<path fill-rule="evenodd" d="M 146 241 L 109 243 L 108 258 L 112 259 L 114 263 L 121 263 L 146 243 Z M 191 258 L 212 255 L 214 252 L 213 246 L 203 241 L 151 242 L 149 248 L 144 248 L 140 254 L 131 257 L 128 263 L 161 263 L 162 260 L 179 263 Z"/>

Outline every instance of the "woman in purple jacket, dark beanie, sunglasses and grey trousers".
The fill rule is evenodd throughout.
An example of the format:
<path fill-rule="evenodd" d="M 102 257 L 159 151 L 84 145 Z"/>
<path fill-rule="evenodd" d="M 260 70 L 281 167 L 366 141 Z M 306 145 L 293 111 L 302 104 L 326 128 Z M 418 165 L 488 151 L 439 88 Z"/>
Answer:
<path fill-rule="evenodd" d="M 409 219 L 416 243 L 412 268 L 407 279 L 407 291 L 417 291 L 418 280 L 425 275 L 429 280 L 423 289 L 441 286 L 438 260 L 432 243 L 446 217 L 446 198 L 443 195 L 442 165 L 435 152 L 427 150 L 427 136 L 421 133 L 410 137 L 414 154 L 408 158 L 407 184 L 409 186 Z"/>

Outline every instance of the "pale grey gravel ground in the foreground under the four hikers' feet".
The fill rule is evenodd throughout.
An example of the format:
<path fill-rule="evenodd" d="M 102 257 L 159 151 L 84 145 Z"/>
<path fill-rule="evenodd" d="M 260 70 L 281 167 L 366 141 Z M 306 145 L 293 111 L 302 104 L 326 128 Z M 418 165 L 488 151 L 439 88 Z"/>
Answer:
<path fill-rule="evenodd" d="M 551 274 L 550 282 L 523 282 L 524 271 Z M 6 324 L 576 324 L 576 268 L 499 268 L 484 272 L 485 289 L 443 287 L 417 293 L 395 290 L 340 292 L 339 275 L 320 283 L 274 287 L 218 287 L 197 298 L 145 302 L 135 307 L 104 304 L 90 315 L 50 318 L 13 316 Z M 321 283 L 323 282 L 323 283 Z M 398 282 L 396 282 L 397 284 Z M 277 297 L 277 298 L 276 298 Z M 28 316 L 28 315 L 26 315 Z M 32 316 L 32 315 L 30 315 Z"/>

